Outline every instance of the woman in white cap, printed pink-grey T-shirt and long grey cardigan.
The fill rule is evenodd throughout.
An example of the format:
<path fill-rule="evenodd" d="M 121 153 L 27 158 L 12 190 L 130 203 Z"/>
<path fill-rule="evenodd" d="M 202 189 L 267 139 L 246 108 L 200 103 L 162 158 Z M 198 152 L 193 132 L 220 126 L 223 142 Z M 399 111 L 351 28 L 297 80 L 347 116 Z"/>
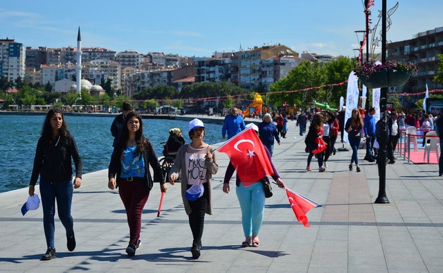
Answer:
<path fill-rule="evenodd" d="M 200 256 L 205 214 L 213 214 L 213 175 L 219 169 L 215 161 L 214 149 L 204 143 L 204 136 L 203 122 L 198 118 L 190 121 L 191 142 L 181 146 L 169 173 L 169 181 L 172 185 L 181 173 L 181 197 L 193 237 L 192 258 Z"/>

